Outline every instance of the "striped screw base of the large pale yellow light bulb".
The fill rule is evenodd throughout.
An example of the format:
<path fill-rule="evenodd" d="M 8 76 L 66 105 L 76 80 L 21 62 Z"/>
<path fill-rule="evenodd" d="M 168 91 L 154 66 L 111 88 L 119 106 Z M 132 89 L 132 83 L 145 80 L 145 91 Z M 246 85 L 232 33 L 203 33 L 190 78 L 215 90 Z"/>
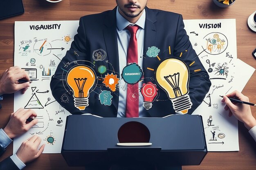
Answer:
<path fill-rule="evenodd" d="M 173 102 L 173 109 L 176 113 L 181 112 L 183 114 L 186 114 L 192 106 L 189 95 L 183 95 L 175 99 L 171 99 L 171 101 Z"/>

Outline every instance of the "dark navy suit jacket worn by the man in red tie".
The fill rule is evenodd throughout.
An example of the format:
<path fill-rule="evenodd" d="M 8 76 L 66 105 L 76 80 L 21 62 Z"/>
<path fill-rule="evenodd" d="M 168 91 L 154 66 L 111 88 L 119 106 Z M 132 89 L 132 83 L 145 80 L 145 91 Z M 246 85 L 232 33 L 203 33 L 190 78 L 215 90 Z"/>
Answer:
<path fill-rule="evenodd" d="M 67 71 L 74 66 L 73 61 L 76 60 L 89 61 L 84 63 L 79 61 L 77 63 L 90 66 L 95 70 L 98 77 L 104 77 L 104 75 L 98 73 L 97 68 L 101 65 L 105 65 L 108 70 L 113 70 L 114 68 L 117 77 L 119 79 L 121 78 L 117 47 L 116 10 L 117 7 L 111 11 L 81 17 L 79 28 L 77 30 L 78 34 L 75 35 L 70 50 L 67 51 L 65 57 L 63 57 L 58 65 L 55 75 L 52 76 L 50 84 L 52 95 L 55 97 L 57 102 L 61 104 L 61 106 L 66 108 L 72 114 L 92 113 L 101 117 L 117 116 L 119 102 L 118 88 L 117 91 L 111 92 L 111 95 L 113 96 L 111 106 L 105 106 L 100 103 L 100 100 L 98 99 L 99 94 L 103 90 L 110 91 L 110 89 L 104 86 L 101 88 L 99 88 L 99 86 L 92 87 L 94 91 L 90 93 L 89 106 L 87 106 L 85 110 L 79 110 L 74 107 L 73 94 L 68 88 L 66 82 L 62 80 L 65 80 Z M 160 61 L 157 60 L 156 57 L 152 58 L 146 56 L 146 51 L 148 50 L 148 47 L 151 46 L 156 46 L 161 50 L 158 55 L 161 60 L 164 60 L 164 58 L 167 57 L 178 57 L 188 66 L 193 61 L 195 62 L 193 65 L 189 66 L 189 96 L 193 103 L 192 108 L 189 109 L 189 114 L 191 114 L 195 108 L 201 104 L 206 93 L 209 91 L 211 82 L 207 71 L 205 71 L 202 63 L 197 57 L 197 54 L 193 50 L 189 37 L 184 30 L 182 15 L 157 9 L 148 9 L 146 7 L 144 37 L 144 58 L 142 68 L 144 77 L 155 77 L 155 72 L 148 70 L 147 67 L 156 69 L 160 64 Z M 168 50 L 169 46 L 171 46 L 171 55 Z M 104 61 L 95 62 L 94 66 L 93 64 L 90 64 L 90 62 L 94 62 L 92 59 L 92 53 L 97 49 L 103 49 L 106 51 L 107 58 Z M 74 51 L 76 51 L 76 54 Z M 183 53 L 182 57 L 180 57 L 181 53 Z M 70 64 L 72 62 L 73 64 Z M 194 70 L 197 69 L 201 69 L 201 71 L 195 72 Z M 113 72 L 108 73 L 111 74 Z M 149 78 L 144 79 L 145 83 L 149 81 L 153 82 L 153 84 L 157 84 L 155 80 L 151 80 Z M 102 84 L 102 80 L 96 80 L 95 84 L 96 83 Z M 168 99 L 167 94 L 159 86 L 157 86 L 157 88 L 159 89 L 158 101 L 153 102 L 152 108 L 148 110 L 148 117 L 164 117 L 166 115 L 175 114 L 172 102 Z M 63 95 L 66 95 L 64 101 L 62 100 Z M 67 98 L 69 98 L 68 101 Z"/>

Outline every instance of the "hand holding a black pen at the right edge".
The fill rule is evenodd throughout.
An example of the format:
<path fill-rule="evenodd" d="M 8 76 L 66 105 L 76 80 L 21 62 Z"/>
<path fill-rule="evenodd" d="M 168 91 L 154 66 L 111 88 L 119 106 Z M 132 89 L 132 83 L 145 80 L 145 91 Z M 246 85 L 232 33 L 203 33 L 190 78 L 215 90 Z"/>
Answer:
<path fill-rule="evenodd" d="M 233 91 L 232 93 L 223 97 L 221 102 L 225 102 L 225 110 L 229 110 L 229 116 L 232 114 L 241 122 L 245 124 L 245 127 L 250 130 L 252 127 L 256 126 L 256 120 L 252 115 L 251 108 L 248 104 L 233 104 L 228 97 L 237 98 L 239 100 L 249 102 L 249 98 L 238 91 Z"/>

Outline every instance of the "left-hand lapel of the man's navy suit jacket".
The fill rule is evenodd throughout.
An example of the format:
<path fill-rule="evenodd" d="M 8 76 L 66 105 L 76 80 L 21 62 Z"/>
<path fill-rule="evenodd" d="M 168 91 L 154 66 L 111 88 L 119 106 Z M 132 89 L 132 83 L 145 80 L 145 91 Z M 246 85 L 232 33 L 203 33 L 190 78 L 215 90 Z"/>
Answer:
<path fill-rule="evenodd" d="M 119 75 L 119 57 L 118 57 L 118 48 L 117 48 L 117 22 L 116 22 L 116 11 L 117 7 L 110 11 L 108 15 L 106 15 L 104 28 L 103 28 L 103 36 L 106 44 L 108 57 L 108 68 L 109 70 L 115 70 L 113 74 L 117 75 L 120 79 Z M 111 73 L 110 73 L 111 74 Z M 118 108 L 119 102 L 119 90 L 113 92 L 115 96 L 113 97 L 112 104 L 115 106 L 116 110 Z"/>

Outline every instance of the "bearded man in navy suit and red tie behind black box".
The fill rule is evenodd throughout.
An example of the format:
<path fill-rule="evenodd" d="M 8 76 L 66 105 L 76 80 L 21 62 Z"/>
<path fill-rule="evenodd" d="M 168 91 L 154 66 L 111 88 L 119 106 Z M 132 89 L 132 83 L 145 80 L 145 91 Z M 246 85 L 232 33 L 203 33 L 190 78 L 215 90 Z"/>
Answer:
<path fill-rule="evenodd" d="M 173 102 L 155 76 L 160 63 L 174 58 L 189 69 L 191 104 L 187 113 L 193 113 L 209 91 L 211 82 L 186 35 L 182 15 L 149 9 L 147 0 L 116 2 L 117 7 L 111 11 L 81 17 L 78 34 L 52 76 L 50 86 L 55 99 L 72 114 L 91 113 L 101 117 L 164 117 L 175 114 L 179 111 L 172 107 Z M 137 27 L 135 38 L 130 26 Z M 130 43 L 130 38 L 135 40 Z M 137 50 L 129 52 L 130 44 L 136 44 Z M 137 59 L 130 60 L 129 53 L 136 55 Z M 124 75 L 134 62 L 136 66 L 129 69 L 137 69 L 141 77 L 129 83 Z M 84 109 L 74 106 L 79 105 L 79 99 L 73 97 L 72 87 L 66 82 L 68 74 L 77 65 L 88 66 L 96 77 L 87 102 L 82 102 L 86 103 Z M 76 77 L 76 80 L 78 78 L 86 77 Z M 146 109 L 141 88 L 149 82 L 153 84 L 151 87 L 157 88 L 157 95 L 151 108 Z M 130 101 L 137 103 L 130 104 Z M 137 110 L 134 111 L 137 116 L 127 116 L 130 106 Z"/>

